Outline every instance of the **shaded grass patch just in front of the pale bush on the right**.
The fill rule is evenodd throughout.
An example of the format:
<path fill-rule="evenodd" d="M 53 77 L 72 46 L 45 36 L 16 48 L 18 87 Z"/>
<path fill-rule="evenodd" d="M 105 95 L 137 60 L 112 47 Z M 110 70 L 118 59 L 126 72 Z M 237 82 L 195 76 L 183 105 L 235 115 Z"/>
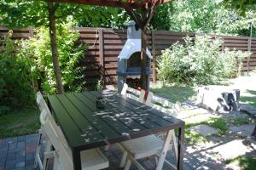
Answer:
<path fill-rule="evenodd" d="M 150 90 L 156 95 L 169 99 L 172 103 L 183 102 L 195 96 L 195 88 L 192 87 L 152 87 Z"/>

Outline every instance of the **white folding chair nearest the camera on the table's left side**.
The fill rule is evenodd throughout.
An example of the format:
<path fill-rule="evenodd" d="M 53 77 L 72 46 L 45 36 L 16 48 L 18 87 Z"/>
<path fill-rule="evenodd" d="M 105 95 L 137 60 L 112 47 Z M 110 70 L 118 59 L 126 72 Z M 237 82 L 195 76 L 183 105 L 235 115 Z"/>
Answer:
<path fill-rule="evenodd" d="M 53 118 L 49 118 L 44 124 L 44 132 L 55 148 L 55 151 L 52 151 L 54 152 L 54 170 L 73 170 L 72 151 L 61 128 Z M 109 166 L 108 159 L 99 149 L 81 151 L 81 164 L 83 170 L 99 170 Z"/>

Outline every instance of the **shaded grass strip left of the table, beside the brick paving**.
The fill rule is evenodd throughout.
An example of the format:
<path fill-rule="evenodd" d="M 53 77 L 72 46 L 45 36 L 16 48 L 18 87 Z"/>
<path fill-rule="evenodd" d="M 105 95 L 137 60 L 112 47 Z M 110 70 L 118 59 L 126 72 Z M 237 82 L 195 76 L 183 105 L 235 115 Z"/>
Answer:
<path fill-rule="evenodd" d="M 40 127 L 39 111 L 20 109 L 0 115 L 0 139 L 36 133 Z"/>

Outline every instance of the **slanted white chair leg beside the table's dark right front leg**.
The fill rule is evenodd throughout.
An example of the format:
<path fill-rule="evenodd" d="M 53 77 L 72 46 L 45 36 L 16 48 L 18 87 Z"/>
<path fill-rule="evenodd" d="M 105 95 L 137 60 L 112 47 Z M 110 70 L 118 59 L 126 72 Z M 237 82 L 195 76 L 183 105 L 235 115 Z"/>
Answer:
<path fill-rule="evenodd" d="M 167 133 L 167 136 L 166 136 L 166 141 L 165 141 L 164 147 L 163 147 L 163 149 L 161 150 L 161 153 L 160 153 L 160 158 L 159 158 L 159 161 L 157 163 L 156 170 L 161 170 L 162 169 L 162 167 L 164 165 L 164 161 L 166 160 L 166 154 L 167 154 L 167 151 L 169 149 L 169 145 L 170 145 L 171 140 L 172 140 L 172 130 L 169 130 L 168 133 Z"/>

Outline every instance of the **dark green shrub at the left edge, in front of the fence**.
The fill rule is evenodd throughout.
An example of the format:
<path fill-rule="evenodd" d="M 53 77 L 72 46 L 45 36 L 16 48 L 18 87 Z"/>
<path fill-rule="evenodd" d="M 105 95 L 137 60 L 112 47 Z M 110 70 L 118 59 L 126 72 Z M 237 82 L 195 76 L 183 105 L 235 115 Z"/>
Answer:
<path fill-rule="evenodd" d="M 0 113 L 31 105 L 32 59 L 19 54 L 20 43 L 10 39 L 12 31 L 3 39 L 0 54 Z"/>

